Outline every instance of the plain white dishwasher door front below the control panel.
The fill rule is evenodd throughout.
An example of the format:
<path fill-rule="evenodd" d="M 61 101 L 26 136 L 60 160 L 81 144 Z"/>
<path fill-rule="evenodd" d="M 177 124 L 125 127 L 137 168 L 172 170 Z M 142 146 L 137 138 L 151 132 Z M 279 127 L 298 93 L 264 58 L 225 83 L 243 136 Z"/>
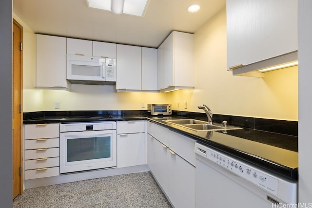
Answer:
<path fill-rule="evenodd" d="M 204 160 L 196 158 L 196 208 L 273 208 L 266 191 Z"/>

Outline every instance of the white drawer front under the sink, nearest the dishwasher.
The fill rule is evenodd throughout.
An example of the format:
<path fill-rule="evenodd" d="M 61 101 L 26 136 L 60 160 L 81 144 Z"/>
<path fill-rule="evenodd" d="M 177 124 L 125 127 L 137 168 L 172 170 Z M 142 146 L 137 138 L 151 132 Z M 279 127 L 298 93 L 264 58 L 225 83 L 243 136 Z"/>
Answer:
<path fill-rule="evenodd" d="M 195 166 L 195 140 L 169 131 L 169 148 Z"/>

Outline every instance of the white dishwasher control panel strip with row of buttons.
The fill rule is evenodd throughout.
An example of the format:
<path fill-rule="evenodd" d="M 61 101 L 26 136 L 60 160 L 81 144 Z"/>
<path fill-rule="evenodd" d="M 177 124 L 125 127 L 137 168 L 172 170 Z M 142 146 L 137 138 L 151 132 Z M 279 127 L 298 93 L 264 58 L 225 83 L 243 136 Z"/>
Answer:
<path fill-rule="evenodd" d="M 249 164 L 238 161 L 237 159 L 225 155 L 214 149 L 198 145 L 195 146 L 195 153 L 206 157 L 219 166 L 232 171 L 236 175 L 254 183 L 256 186 L 265 189 L 266 191 L 277 196 L 278 193 L 278 179 L 272 175 L 264 173 L 264 171 L 252 167 Z"/>

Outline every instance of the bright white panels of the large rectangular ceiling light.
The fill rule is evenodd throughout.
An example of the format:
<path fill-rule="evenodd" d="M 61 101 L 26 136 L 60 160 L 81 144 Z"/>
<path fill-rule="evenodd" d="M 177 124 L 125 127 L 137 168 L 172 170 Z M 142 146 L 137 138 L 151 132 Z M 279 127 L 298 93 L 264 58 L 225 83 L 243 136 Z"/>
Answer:
<path fill-rule="evenodd" d="M 87 0 L 88 6 L 97 9 L 103 10 L 111 10 L 111 0 Z M 117 2 L 122 2 L 122 0 L 118 0 Z M 128 14 L 128 15 L 136 15 L 143 16 L 144 10 L 146 8 L 148 0 L 124 0 L 123 12 L 115 11 L 116 14 Z"/>

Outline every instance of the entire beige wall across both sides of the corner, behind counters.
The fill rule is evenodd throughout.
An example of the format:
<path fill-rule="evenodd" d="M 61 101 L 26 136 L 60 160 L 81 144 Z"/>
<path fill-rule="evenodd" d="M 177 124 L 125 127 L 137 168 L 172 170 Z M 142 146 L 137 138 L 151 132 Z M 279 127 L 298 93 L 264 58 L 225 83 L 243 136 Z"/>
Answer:
<path fill-rule="evenodd" d="M 92 85 L 72 85 L 71 92 L 34 89 L 35 35 L 14 18 L 24 26 L 24 112 L 54 111 L 55 101 L 60 111 L 145 110 L 145 102 L 172 103 L 174 110 L 191 112 L 202 112 L 197 106 L 206 104 L 218 114 L 298 120 L 297 67 L 269 72 L 264 78 L 226 71 L 225 8 L 195 32 L 195 90 L 171 93 L 117 93 L 114 86 Z"/>

